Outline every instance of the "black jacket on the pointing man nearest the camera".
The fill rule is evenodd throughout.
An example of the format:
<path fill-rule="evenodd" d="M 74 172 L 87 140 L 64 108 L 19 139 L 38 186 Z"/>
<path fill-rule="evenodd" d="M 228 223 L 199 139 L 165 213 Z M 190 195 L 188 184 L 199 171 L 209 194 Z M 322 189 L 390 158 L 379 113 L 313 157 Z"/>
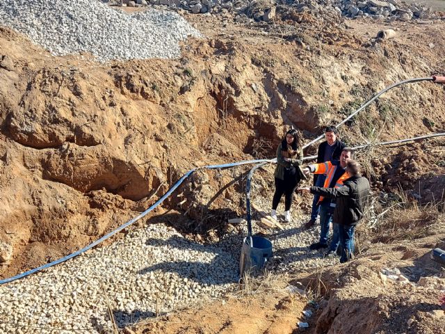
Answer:
<path fill-rule="evenodd" d="M 345 180 L 339 188 L 311 186 L 311 193 L 337 198 L 332 222 L 353 226 L 363 218 L 364 205 L 369 196 L 369 181 L 366 177 L 353 176 Z"/>

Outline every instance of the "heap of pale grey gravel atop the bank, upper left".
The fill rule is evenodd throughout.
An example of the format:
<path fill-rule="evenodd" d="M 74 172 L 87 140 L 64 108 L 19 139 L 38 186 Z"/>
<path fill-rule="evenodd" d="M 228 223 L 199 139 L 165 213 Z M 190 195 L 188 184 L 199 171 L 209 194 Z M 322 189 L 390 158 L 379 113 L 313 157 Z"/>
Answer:
<path fill-rule="evenodd" d="M 179 41 L 200 37 L 177 13 L 129 15 L 91 0 L 1 0 L 0 24 L 56 56 L 90 52 L 99 61 L 176 58 Z"/>

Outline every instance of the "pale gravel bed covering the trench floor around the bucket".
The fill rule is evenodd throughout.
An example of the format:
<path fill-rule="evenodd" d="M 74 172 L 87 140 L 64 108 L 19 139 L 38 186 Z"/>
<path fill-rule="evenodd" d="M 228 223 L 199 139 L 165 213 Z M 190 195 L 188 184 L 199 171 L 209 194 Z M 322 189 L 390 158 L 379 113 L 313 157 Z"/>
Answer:
<path fill-rule="evenodd" d="M 268 235 L 275 255 L 269 271 L 296 271 L 334 264 L 307 246 L 317 229 L 302 221 Z M 259 230 L 254 226 L 254 230 Z M 167 225 L 148 225 L 104 248 L 0 286 L 0 333 L 108 333 L 108 308 L 119 327 L 156 313 L 217 299 L 238 287 L 238 259 L 246 228 L 217 244 L 189 241 Z M 65 330 L 65 331 L 63 331 Z"/>

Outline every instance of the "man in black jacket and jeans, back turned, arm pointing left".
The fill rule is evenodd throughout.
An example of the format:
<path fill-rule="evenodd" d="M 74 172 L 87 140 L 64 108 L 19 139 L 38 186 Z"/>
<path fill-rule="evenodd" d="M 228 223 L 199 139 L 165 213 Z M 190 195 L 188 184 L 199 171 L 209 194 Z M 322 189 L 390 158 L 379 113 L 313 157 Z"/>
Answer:
<path fill-rule="evenodd" d="M 350 160 L 346 164 L 346 172 L 350 177 L 338 188 L 321 188 L 311 186 L 298 190 L 318 194 L 323 197 L 336 198 L 333 223 L 339 224 L 340 244 L 343 248 L 340 262 L 347 262 L 353 256 L 353 239 L 355 226 L 363 218 L 364 207 L 369 196 L 369 181 L 360 174 L 360 165 Z"/>

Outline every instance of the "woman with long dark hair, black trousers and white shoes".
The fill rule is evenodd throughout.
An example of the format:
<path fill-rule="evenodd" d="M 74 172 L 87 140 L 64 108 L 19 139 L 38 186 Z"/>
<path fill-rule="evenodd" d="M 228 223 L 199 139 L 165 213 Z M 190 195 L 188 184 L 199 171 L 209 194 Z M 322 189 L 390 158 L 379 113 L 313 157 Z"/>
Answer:
<path fill-rule="evenodd" d="M 302 172 L 298 166 L 302 164 L 303 151 L 296 129 L 286 132 L 277 148 L 277 167 L 275 168 L 275 193 L 272 200 L 270 216 L 277 219 L 277 206 L 284 194 L 284 219 L 291 221 L 292 196 L 300 182 Z"/>

